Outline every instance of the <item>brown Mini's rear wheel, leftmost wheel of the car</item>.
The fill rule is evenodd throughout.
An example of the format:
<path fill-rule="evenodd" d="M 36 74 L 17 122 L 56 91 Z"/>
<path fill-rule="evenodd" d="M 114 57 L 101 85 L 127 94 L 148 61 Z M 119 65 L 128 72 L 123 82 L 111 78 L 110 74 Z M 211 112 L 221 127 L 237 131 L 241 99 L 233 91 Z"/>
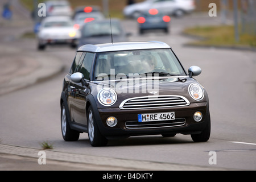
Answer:
<path fill-rule="evenodd" d="M 77 141 L 79 139 L 79 131 L 72 130 L 67 121 L 67 113 L 64 104 L 61 105 L 61 133 L 65 141 Z"/>

